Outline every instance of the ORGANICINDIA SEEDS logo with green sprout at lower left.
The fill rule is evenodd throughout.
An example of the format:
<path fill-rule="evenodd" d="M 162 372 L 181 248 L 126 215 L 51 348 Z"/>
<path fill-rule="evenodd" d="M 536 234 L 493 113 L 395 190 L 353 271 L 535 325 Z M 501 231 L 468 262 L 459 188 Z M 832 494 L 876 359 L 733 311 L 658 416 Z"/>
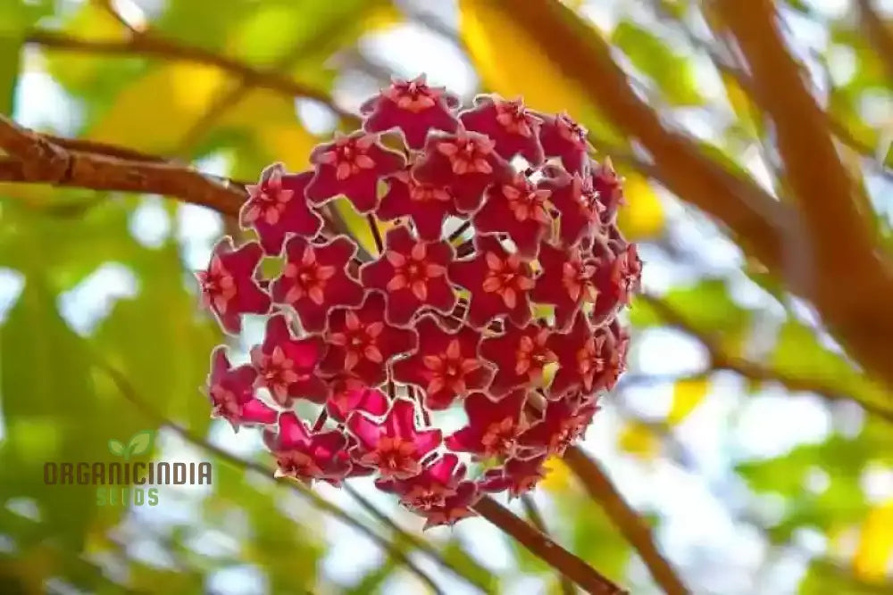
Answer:
<path fill-rule="evenodd" d="M 120 461 L 48 461 L 44 483 L 96 486 L 97 506 L 157 506 L 158 486 L 211 485 L 213 468 L 208 461 L 139 460 L 152 451 L 154 439 L 153 430 L 142 430 L 127 442 L 109 440 L 109 452 Z"/>

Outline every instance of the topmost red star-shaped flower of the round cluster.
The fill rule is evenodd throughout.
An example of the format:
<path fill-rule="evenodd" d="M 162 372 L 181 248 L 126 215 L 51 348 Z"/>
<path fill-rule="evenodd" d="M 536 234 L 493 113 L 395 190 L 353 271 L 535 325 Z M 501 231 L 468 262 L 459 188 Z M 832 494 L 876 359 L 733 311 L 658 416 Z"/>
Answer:
<path fill-rule="evenodd" d="M 457 107 L 458 97 L 443 87 L 429 87 L 422 74 L 409 81 L 393 79 L 390 87 L 360 106 L 360 113 L 365 116 L 366 131 L 400 128 L 406 145 L 421 149 L 429 130 L 455 132 L 459 121 L 453 112 Z"/>

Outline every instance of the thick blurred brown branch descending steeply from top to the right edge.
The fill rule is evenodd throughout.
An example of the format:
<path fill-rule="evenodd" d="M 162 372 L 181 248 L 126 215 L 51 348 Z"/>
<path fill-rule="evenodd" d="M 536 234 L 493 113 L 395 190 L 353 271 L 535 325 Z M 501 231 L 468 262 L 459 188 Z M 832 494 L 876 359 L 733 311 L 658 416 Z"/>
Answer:
<path fill-rule="evenodd" d="M 893 268 L 878 248 L 864 195 L 840 161 L 822 109 L 789 53 L 772 0 L 715 3 L 753 73 L 755 99 L 776 144 L 819 278 L 806 287 L 823 318 L 865 368 L 893 386 Z M 783 93 L 779 89 L 784 89 Z M 880 299 L 879 299 L 880 298 Z"/>

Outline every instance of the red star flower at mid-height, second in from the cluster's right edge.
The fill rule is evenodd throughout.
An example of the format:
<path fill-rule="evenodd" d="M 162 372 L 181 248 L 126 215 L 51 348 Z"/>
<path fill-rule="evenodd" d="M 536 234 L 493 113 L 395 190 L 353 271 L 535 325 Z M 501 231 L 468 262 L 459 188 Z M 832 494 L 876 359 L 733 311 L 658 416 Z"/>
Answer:
<path fill-rule="evenodd" d="M 584 260 L 579 246 L 559 248 L 544 242 L 539 248 L 539 265 L 543 269 L 537 285 L 530 293 L 536 303 L 555 306 L 555 327 L 564 331 L 584 303 L 596 303 L 597 261 Z"/>

